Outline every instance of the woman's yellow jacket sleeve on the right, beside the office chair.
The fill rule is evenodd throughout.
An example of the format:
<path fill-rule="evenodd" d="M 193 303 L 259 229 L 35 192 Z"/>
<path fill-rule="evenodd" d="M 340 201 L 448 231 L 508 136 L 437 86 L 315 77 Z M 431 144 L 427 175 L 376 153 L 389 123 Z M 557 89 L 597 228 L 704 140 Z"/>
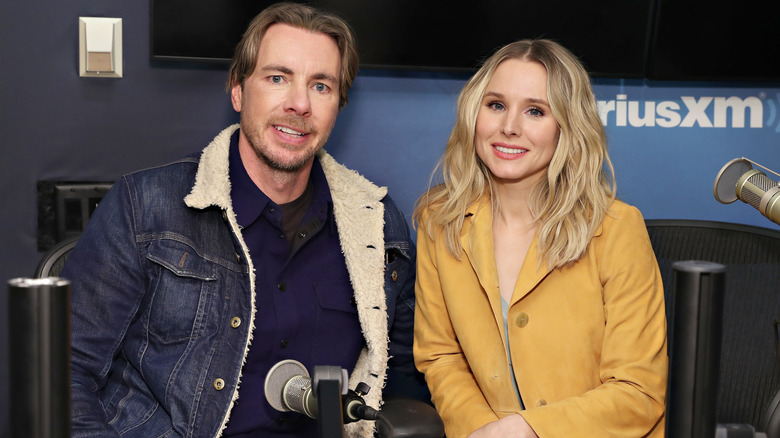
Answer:
<path fill-rule="evenodd" d="M 603 230 L 589 249 L 603 284 L 601 384 L 523 411 L 540 437 L 663 436 L 668 357 L 657 261 L 636 208 L 611 210 Z"/>

